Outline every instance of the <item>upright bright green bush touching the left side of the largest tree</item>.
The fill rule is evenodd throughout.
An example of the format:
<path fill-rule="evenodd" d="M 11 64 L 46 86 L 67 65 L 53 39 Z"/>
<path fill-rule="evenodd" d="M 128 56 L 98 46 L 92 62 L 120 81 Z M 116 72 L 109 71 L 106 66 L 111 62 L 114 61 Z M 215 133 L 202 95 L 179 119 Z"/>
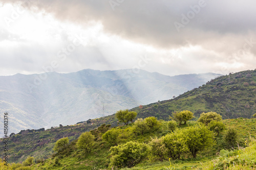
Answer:
<path fill-rule="evenodd" d="M 166 155 L 173 160 L 180 159 L 180 156 L 188 151 L 186 138 L 182 131 L 174 131 L 163 136 L 163 143 L 167 148 Z"/>

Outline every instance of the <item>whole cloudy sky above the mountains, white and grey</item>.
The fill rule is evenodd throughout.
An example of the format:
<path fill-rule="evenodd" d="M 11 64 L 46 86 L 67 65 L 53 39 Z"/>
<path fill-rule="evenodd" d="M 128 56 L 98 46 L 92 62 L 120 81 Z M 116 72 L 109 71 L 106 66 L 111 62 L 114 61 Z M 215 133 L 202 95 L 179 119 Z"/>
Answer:
<path fill-rule="evenodd" d="M 0 0 L 0 76 L 256 68 L 256 2 Z"/>

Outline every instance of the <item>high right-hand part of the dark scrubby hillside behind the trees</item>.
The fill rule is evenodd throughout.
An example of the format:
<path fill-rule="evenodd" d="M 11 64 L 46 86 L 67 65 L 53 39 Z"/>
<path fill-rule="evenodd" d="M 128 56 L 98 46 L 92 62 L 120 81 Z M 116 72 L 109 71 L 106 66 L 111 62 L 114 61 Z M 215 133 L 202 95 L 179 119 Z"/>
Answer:
<path fill-rule="evenodd" d="M 141 117 L 166 119 L 174 111 L 190 110 L 199 116 L 214 111 L 227 118 L 251 118 L 256 113 L 256 70 L 221 76 L 175 99 L 131 109 Z"/>

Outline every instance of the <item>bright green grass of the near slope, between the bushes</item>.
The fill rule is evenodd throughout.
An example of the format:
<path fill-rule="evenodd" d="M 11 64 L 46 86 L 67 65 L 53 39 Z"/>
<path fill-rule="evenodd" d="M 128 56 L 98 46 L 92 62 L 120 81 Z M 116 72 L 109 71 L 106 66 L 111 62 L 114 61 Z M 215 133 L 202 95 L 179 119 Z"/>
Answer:
<path fill-rule="evenodd" d="M 196 122 L 189 122 L 188 125 L 194 125 Z M 224 120 L 227 127 L 241 127 L 238 128 L 241 137 L 249 138 L 249 133 L 251 136 L 256 136 L 255 125 L 256 119 L 227 119 Z M 135 136 L 132 134 L 131 126 L 120 127 L 122 129 L 121 140 L 118 144 L 125 143 L 128 140 L 136 140 L 140 142 L 147 142 L 150 140 L 150 136 L 162 136 L 167 133 L 166 122 L 161 122 L 161 129 L 157 132 L 151 133 L 150 135 Z M 245 128 L 246 127 L 246 128 Z M 249 133 L 248 133 L 249 132 Z M 222 135 L 220 135 L 221 138 Z M 110 145 L 106 144 L 104 141 L 99 139 L 97 144 L 94 146 L 93 153 L 89 156 L 78 156 L 79 153 L 75 150 L 70 153 L 68 157 L 63 157 L 59 159 L 60 165 L 56 165 L 55 159 L 48 159 L 45 163 L 39 163 L 32 166 L 32 169 L 108 169 Z M 167 169 L 167 167 L 175 167 L 175 169 L 207 169 L 213 165 L 213 161 L 219 161 L 219 155 L 215 148 L 209 151 L 201 152 L 197 158 L 192 158 L 189 154 L 183 157 L 181 160 L 171 160 L 170 162 L 150 162 L 148 160 L 136 165 L 133 168 L 123 168 L 123 169 Z M 230 158 L 231 159 L 231 158 Z M 170 166 L 171 163 L 171 166 Z"/>

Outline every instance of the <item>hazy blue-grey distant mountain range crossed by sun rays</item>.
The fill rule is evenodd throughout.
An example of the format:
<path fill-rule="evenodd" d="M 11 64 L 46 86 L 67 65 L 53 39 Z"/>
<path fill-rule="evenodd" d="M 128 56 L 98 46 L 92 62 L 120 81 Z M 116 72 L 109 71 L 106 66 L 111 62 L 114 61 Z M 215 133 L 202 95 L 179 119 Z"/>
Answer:
<path fill-rule="evenodd" d="M 15 133 L 70 125 L 171 99 L 217 76 L 170 77 L 144 70 L 135 74 L 132 69 L 0 76 L 0 112 L 9 112 L 9 131 Z"/>

